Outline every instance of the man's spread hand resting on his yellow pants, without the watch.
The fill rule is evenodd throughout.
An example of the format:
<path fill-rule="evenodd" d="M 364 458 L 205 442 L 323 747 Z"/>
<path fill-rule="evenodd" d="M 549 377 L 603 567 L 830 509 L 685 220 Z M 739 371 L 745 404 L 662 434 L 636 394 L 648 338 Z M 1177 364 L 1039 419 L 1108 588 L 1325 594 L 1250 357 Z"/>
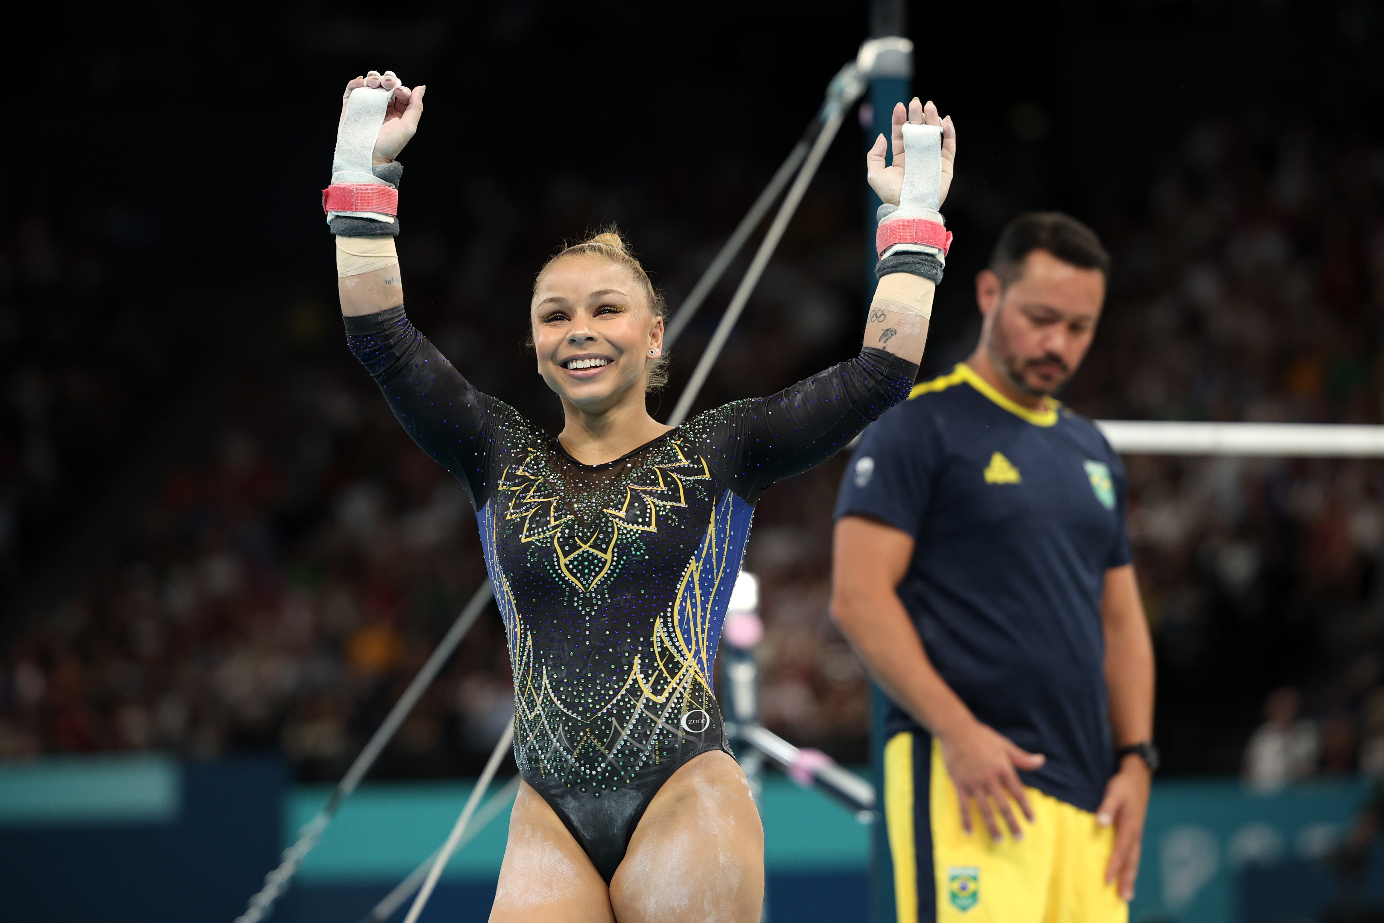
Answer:
<path fill-rule="evenodd" d="M 1009 801 L 1013 798 L 1030 823 L 1034 821 L 1034 810 L 1028 804 L 1017 771 L 1037 769 L 1046 762 L 1046 757 L 1020 750 L 1009 738 L 978 721 L 970 721 L 960 732 L 938 736 L 943 742 L 947 772 L 956 786 L 962 829 L 970 833 L 970 803 L 974 801 L 992 839 L 1003 837 L 995 819 L 994 808 L 998 807 L 1009 825 L 1010 834 L 1021 840 L 1024 832 Z"/>

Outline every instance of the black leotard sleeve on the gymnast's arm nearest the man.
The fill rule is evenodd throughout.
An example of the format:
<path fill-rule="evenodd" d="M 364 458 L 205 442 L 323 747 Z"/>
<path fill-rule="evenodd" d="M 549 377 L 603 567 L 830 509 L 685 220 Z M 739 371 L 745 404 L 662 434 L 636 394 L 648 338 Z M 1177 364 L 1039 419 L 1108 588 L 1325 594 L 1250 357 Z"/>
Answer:
<path fill-rule="evenodd" d="M 686 430 L 721 480 L 754 502 L 774 482 L 830 458 L 908 397 L 916 376 L 916 364 L 866 346 L 778 394 L 710 410 Z"/>

